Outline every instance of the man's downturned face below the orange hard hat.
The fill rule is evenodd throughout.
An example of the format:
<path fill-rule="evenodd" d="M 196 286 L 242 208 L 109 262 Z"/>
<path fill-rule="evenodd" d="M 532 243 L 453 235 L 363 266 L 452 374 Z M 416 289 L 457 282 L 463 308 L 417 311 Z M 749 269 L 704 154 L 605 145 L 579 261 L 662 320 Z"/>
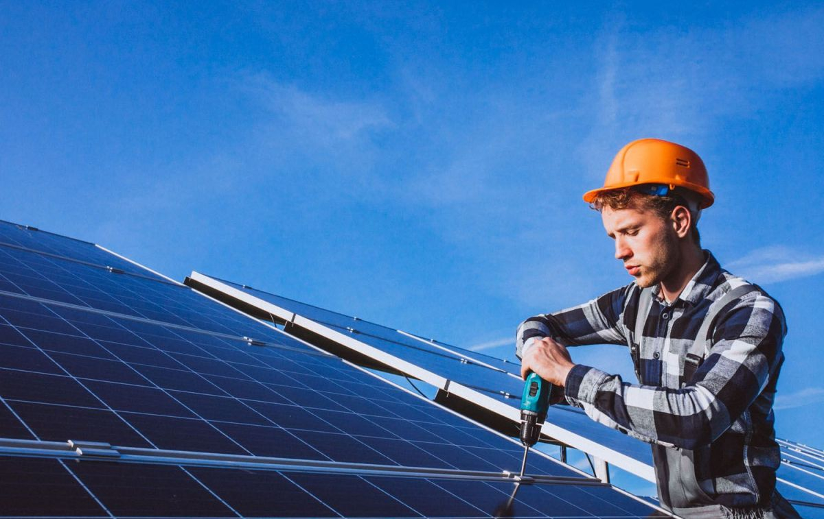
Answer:
<path fill-rule="evenodd" d="M 669 222 L 653 211 L 604 207 L 601 218 L 606 234 L 616 243 L 616 259 L 624 262 L 641 288 L 658 285 L 678 261 L 677 234 Z"/>

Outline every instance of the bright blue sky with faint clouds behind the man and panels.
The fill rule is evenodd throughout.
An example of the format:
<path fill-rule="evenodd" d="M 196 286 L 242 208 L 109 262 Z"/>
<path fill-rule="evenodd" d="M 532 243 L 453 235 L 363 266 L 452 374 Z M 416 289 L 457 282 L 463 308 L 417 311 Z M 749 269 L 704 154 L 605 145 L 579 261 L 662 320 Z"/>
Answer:
<path fill-rule="evenodd" d="M 629 282 L 581 195 L 678 141 L 788 314 L 778 433 L 824 447 L 824 8 L 445 3 L 2 2 L 0 218 L 511 356 Z"/>

